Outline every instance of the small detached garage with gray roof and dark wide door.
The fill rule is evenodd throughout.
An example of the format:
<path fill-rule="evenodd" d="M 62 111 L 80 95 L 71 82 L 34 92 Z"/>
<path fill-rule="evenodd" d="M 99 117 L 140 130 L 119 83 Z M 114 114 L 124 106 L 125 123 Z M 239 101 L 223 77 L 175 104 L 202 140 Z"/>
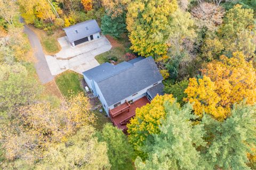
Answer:
<path fill-rule="evenodd" d="M 63 28 L 68 41 L 74 47 L 84 42 L 92 41 L 93 39 L 100 38 L 100 27 L 96 20 L 88 20 L 76 25 Z"/>

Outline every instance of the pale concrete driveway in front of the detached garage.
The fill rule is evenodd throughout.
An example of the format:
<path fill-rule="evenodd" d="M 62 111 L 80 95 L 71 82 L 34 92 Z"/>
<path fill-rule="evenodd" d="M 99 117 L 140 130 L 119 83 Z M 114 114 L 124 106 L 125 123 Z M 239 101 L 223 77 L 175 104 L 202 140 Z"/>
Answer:
<path fill-rule="evenodd" d="M 52 75 L 58 75 L 68 69 L 82 74 L 86 70 L 99 66 L 94 57 L 109 51 L 112 47 L 105 36 L 75 47 L 69 44 L 66 36 L 59 38 L 58 41 L 62 50 L 53 56 L 45 56 Z"/>

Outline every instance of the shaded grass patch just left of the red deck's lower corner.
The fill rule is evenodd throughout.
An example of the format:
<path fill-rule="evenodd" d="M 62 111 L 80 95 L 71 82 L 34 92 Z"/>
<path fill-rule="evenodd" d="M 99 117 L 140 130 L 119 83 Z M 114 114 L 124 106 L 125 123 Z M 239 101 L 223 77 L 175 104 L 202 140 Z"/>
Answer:
<path fill-rule="evenodd" d="M 96 121 L 94 123 L 94 128 L 96 128 L 98 131 L 101 131 L 106 123 L 112 123 L 111 120 L 105 116 L 106 112 L 103 108 L 101 108 L 103 112 L 99 112 L 99 109 L 94 110 L 93 114 L 96 117 Z"/>

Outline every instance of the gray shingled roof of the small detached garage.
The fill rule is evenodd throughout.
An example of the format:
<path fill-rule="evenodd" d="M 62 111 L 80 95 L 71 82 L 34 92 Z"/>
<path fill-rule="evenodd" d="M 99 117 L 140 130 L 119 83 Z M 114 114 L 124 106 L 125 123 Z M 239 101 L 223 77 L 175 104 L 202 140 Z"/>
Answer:
<path fill-rule="evenodd" d="M 66 35 L 70 42 L 77 41 L 78 39 L 82 39 L 84 37 L 99 33 L 101 31 L 96 20 L 88 20 L 77 23 L 74 26 L 63 28 L 63 30 L 66 32 Z"/>

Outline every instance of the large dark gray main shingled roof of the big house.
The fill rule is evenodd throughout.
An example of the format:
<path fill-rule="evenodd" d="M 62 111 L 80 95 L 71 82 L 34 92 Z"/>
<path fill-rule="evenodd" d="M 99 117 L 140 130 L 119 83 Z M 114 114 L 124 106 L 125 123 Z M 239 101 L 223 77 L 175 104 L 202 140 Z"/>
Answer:
<path fill-rule="evenodd" d="M 113 76 L 105 77 L 98 85 L 108 106 L 111 106 L 160 80 L 163 77 L 150 56 Z"/>

